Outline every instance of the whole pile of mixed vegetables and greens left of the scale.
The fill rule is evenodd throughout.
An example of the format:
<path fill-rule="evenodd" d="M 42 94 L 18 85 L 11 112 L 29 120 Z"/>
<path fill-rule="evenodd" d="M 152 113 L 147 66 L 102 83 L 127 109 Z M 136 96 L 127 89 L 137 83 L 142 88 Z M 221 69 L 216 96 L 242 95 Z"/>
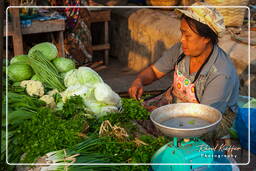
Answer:
<path fill-rule="evenodd" d="M 12 58 L 7 76 L 1 141 L 5 170 L 15 169 L 4 165 L 6 148 L 9 163 L 44 159 L 49 164 L 45 170 L 148 170 L 148 166 L 72 164 L 150 163 L 153 153 L 169 141 L 141 130 L 137 121 L 149 119 L 141 101 L 120 98 L 91 68 L 75 68 L 71 59 L 57 57 L 51 43 L 40 43 L 28 55 Z"/>

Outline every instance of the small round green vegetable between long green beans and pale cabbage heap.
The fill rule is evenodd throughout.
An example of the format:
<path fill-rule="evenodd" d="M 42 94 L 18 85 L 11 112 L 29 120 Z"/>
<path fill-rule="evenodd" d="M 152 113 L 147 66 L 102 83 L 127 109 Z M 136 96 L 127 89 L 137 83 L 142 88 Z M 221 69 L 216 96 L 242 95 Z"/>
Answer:
<path fill-rule="evenodd" d="M 75 63 L 68 58 L 55 58 L 53 64 L 58 69 L 59 72 L 68 72 L 75 69 Z"/>

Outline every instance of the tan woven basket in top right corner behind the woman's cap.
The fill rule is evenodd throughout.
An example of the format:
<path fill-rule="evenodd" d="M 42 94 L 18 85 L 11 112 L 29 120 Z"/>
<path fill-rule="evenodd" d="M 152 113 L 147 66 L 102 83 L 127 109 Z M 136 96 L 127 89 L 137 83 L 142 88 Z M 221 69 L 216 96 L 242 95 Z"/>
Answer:
<path fill-rule="evenodd" d="M 214 6 L 247 6 L 248 0 L 204 0 Z M 217 8 L 224 17 L 225 26 L 242 26 L 246 8 Z"/>

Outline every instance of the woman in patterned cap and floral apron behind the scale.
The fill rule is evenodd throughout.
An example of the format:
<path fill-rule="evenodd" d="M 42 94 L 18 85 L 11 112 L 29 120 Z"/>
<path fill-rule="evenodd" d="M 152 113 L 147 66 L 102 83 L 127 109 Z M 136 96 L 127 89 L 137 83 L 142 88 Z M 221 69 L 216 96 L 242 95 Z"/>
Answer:
<path fill-rule="evenodd" d="M 194 5 L 204 5 L 195 3 Z M 181 16 L 181 40 L 142 71 L 129 88 L 140 99 L 143 87 L 174 71 L 170 88 L 144 103 L 149 110 L 170 103 L 188 102 L 210 105 L 223 114 L 217 131 L 226 135 L 237 111 L 239 79 L 229 56 L 218 46 L 225 31 L 223 17 L 214 8 L 191 7 L 178 10 Z"/>

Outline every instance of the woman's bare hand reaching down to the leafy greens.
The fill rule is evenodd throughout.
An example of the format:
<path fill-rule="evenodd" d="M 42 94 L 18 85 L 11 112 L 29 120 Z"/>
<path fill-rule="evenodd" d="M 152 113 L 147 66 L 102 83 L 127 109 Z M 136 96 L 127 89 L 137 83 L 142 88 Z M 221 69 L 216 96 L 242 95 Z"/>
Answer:
<path fill-rule="evenodd" d="M 144 87 L 143 87 L 141 80 L 140 79 L 134 80 L 132 85 L 130 86 L 128 92 L 129 92 L 129 95 L 131 98 L 140 100 L 140 98 L 144 92 Z"/>

